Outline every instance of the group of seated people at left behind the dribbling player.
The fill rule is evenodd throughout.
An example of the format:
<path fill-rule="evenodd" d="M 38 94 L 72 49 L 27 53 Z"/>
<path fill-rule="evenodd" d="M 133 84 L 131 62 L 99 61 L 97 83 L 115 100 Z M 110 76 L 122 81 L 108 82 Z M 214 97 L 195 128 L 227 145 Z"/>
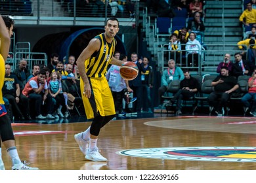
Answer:
<path fill-rule="evenodd" d="M 26 59 L 21 59 L 13 71 L 11 65 L 5 65 L 3 97 L 11 119 L 68 118 L 75 103 L 83 107 L 74 56 L 64 65 L 58 54 L 52 54 L 49 67 L 33 65 L 32 72 L 27 65 Z"/>

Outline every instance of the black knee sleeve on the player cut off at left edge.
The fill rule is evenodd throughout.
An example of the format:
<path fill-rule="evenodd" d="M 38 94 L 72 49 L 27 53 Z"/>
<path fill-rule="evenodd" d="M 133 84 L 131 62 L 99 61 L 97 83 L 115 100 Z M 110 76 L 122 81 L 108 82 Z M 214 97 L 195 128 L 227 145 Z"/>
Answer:
<path fill-rule="evenodd" d="M 14 140 L 11 120 L 7 114 L 0 117 L 0 136 L 3 142 Z"/>

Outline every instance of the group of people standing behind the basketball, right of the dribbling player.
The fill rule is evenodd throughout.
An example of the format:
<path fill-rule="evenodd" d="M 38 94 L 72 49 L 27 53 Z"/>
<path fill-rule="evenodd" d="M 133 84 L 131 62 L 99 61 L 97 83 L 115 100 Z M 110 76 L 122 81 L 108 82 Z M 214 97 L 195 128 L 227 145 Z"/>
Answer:
<path fill-rule="evenodd" d="M 119 52 L 115 52 L 114 57 L 129 61 L 127 56 Z M 139 68 L 139 74 L 134 80 L 123 80 L 119 75 L 119 66 L 116 65 L 112 65 L 106 74 L 119 116 L 153 112 L 151 94 L 154 88 L 154 70 L 149 65 L 150 59 L 139 58 L 138 54 L 133 52 L 131 61 Z"/>

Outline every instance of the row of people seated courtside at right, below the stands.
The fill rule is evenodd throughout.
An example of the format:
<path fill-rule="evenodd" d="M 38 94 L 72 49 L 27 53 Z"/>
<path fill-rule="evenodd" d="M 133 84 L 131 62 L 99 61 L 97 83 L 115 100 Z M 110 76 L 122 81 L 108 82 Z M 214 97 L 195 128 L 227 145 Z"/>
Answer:
<path fill-rule="evenodd" d="M 216 75 L 211 80 L 211 92 L 207 96 L 210 114 L 214 111 L 216 114 L 223 116 L 228 112 L 228 101 L 230 98 L 236 98 L 244 106 L 245 112 L 250 112 L 256 116 L 255 111 L 255 94 L 256 94 L 256 67 L 255 63 L 242 58 L 242 54 L 234 54 L 232 61 L 230 54 L 225 54 L 223 61 L 216 68 Z M 205 76 L 206 77 L 206 76 Z M 176 106 L 176 114 L 182 114 L 182 101 L 192 99 L 195 101 L 195 95 L 202 95 L 203 76 L 201 80 L 190 76 L 189 69 L 182 69 L 175 64 L 174 59 L 169 59 L 168 67 L 161 75 L 161 87 L 158 89 L 160 107 Z M 244 83 L 241 82 L 243 80 Z M 173 91 L 173 82 L 179 81 L 179 90 Z M 208 81 L 209 82 L 209 81 Z M 241 87 L 246 88 L 242 91 Z M 213 90 L 214 88 L 214 90 Z M 247 90 L 249 88 L 249 90 Z M 168 97 L 172 95 L 172 97 Z"/>

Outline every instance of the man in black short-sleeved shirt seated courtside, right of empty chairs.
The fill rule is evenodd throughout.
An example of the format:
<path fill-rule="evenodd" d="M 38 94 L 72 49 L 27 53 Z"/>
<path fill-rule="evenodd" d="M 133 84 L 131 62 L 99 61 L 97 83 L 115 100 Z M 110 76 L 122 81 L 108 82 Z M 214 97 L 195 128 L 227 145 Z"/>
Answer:
<path fill-rule="evenodd" d="M 208 97 L 209 106 L 214 107 L 218 115 L 224 115 L 224 108 L 231 93 L 239 88 L 237 80 L 228 75 L 228 67 L 224 66 L 221 67 L 221 75 L 211 82 L 211 86 L 214 86 L 214 92 L 211 92 Z"/>

